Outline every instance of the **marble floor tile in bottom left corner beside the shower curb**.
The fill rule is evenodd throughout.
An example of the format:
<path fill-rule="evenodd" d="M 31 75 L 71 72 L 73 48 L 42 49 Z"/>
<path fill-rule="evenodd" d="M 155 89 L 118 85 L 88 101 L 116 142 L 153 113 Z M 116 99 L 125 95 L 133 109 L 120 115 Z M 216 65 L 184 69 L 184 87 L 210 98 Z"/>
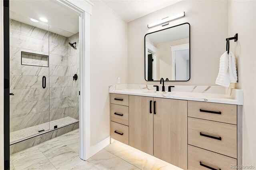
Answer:
<path fill-rule="evenodd" d="M 11 155 L 11 159 L 16 170 L 56 169 L 37 146 Z"/>

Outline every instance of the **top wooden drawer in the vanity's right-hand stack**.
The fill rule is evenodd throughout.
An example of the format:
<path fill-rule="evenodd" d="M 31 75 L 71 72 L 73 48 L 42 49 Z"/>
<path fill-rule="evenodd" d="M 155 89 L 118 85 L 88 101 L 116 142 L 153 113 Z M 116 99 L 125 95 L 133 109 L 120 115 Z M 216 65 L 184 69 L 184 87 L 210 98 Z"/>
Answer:
<path fill-rule="evenodd" d="M 188 101 L 188 117 L 236 125 L 237 105 Z"/>

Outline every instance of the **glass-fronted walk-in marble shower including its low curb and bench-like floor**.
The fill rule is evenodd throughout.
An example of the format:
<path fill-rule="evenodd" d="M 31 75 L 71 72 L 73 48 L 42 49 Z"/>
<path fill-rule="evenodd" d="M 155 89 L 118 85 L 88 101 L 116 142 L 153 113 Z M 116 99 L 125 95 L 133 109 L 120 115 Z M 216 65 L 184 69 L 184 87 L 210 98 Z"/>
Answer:
<path fill-rule="evenodd" d="M 78 32 L 10 11 L 11 154 L 79 127 L 74 74 L 79 77 Z"/>

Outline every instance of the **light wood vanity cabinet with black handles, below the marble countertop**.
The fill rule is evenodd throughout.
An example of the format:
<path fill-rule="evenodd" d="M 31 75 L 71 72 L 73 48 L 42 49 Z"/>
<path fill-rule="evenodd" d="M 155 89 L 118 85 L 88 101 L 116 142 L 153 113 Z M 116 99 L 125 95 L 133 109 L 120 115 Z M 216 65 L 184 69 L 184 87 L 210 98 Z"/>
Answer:
<path fill-rule="evenodd" d="M 242 165 L 242 106 L 110 94 L 111 138 L 184 170 Z"/>

